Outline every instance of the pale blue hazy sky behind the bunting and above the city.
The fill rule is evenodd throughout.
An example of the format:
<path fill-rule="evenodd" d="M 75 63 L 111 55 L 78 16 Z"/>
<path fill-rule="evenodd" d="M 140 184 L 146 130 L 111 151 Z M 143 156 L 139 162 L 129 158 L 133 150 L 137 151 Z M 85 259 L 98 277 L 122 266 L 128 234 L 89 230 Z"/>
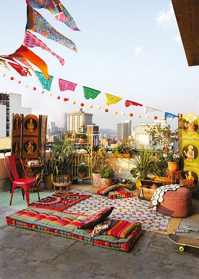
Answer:
<path fill-rule="evenodd" d="M 25 0 L 9 0 L 9 12 L 6 2 L 1 5 L 1 55 L 11 54 L 20 47 L 26 25 Z M 41 48 L 31 49 L 46 62 L 49 74 L 54 76 L 52 96 L 46 90 L 41 94 L 42 87 L 34 73 L 32 77 L 21 77 L 10 69 L 12 75 L 21 80 L 18 84 L 10 80 L 2 66 L 0 71 L 6 76 L 0 74 L 1 92 L 21 94 L 22 106 L 31 107 L 35 115 L 48 115 L 48 122 L 55 121 L 58 126 L 61 126 L 61 113 L 76 111 L 80 103 L 84 103 L 83 111 L 93 113 L 93 122 L 100 128 L 117 130 L 117 123 L 123 120 L 132 120 L 134 126 L 141 121 L 153 121 L 154 116 L 164 116 L 164 112 L 150 112 L 146 119 L 144 106 L 127 108 L 126 99 L 173 114 L 193 112 L 198 115 L 199 67 L 188 67 L 171 1 L 62 0 L 62 4 L 81 32 L 72 31 L 56 21 L 48 10 L 37 11 L 75 42 L 78 54 L 39 33 L 34 34 L 65 59 L 65 65 L 61 66 L 57 58 Z M 36 66 L 34 69 L 39 70 Z M 60 92 L 58 78 L 78 86 L 74 92 Z M 24 87 L 26 83 L 27 88 Z M 86 100 L 82 85 L 101 93 L 94 100 Z M 123 100 L 106 106 L 105 93 Z M 59 100 L 57 96 L 60 96 Z M 64 97 L 69 101 L 64 102 Z M 89 108 L 89 105 L 93 107 Z M 105 108 L 109 109 L 108 113 Z M 113 113 L 115 110 L 117 115 Z M 141 118 L 137 118 L 138 114 Z M 177 118 L 168 123 L 172 129 L 177 128 Z"/>

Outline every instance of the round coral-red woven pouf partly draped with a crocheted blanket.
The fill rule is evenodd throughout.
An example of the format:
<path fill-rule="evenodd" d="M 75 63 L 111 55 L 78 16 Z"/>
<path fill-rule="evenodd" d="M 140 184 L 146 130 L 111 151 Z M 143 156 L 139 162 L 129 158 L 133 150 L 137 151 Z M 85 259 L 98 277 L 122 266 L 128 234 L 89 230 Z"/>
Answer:
<path fill-rule="evenodd" d="M 192 212 L 192 193 L 188 188 L 180 187 L 176 191 L 168 191 L 164 201 L 157 207 L 159 213 L 171 217 L 186 217 Z"/>

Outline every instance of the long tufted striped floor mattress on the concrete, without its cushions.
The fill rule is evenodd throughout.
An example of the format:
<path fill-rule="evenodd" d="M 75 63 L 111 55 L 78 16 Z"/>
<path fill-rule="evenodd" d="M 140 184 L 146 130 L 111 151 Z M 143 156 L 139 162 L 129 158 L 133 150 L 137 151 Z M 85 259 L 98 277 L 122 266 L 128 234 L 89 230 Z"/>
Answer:
<path fill-rule="evenodd" d="M 95 236 L 91 243 L 92 229 L 78 229 L 81 221 L 86 217 L 87 215 L 84 214 L 29 207 L 7 216 L 6 221 L 7 224 L 19 228 L 59 235 L 119 251 L 129 251 L 141 234 L 141 224 L 136 222 L 125 238 L 103 234 Z"/>

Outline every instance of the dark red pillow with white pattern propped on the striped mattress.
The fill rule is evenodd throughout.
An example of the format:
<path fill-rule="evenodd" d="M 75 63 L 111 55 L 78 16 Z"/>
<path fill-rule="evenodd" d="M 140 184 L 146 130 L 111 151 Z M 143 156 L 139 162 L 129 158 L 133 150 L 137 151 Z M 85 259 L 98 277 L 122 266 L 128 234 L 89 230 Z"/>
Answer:
<path fill-rule="evenodd" d="M 104 207 L 91 213 L 86 219 L 81 221 L 79 229 L 92 229 L 95 225 L 102 223 L 113 211 L 114 206 Z"/>

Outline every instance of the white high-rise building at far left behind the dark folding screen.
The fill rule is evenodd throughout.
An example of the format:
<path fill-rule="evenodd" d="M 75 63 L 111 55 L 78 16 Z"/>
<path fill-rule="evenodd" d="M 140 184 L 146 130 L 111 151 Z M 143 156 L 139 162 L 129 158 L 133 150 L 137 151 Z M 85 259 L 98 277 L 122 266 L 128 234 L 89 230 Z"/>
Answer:
<path fill-rule="evenodd" d="M 21 94 L 0 92 L 0 137 L 10 137 L 12 113 L 31 114 L 30 107 L 21 106 Z"/>

